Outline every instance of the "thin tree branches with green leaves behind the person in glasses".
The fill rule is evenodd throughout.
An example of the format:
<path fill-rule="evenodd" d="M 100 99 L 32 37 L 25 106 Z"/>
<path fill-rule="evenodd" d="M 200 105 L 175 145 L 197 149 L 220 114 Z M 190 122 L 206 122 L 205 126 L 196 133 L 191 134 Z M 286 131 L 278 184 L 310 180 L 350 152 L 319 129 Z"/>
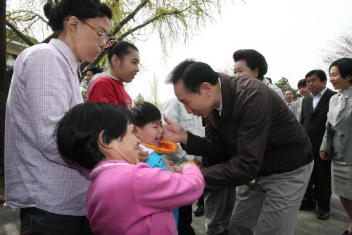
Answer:
<path fill-rule="evenodd" d="M 17 1 L 17 0 L 11 0 Z M 8 0 L 8 2 L 11 2 Z M 231 1 L 231 0 L 230 0 Z M 18 8 L 6 13 L 8 23 L 14 25 L 24 35 L 44 40 L 51 32 L 46 25 L 42 7 L 44 0 L 20 0 Z M 157 35 L 164 55 L 167 44 L 187 43 L 189 37 L 213 20 L 213 14 L 220 13 L 220 0 L 106 0 L 113 11 L 111 35 L 118 40 L 130 42 L 149 40 Z M 217 11 L 218 10 L 218 11 Z M 42 34 L 38 34 L 42 32 Z M 42 38 L 38 38 L 42 37 Z M 103 59 L 105 51 L 91 63 L 83 63 L 81 70 L 95 66 Z M 101 67 L 102 64 L 100 64 Z"/>

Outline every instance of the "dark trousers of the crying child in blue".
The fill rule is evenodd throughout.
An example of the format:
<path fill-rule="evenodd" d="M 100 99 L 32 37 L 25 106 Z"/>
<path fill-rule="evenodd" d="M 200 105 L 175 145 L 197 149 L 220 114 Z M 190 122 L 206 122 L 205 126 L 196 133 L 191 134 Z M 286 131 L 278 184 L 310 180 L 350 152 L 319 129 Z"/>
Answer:
<path fill-rule="evenodd" d="M 178 234 L 179 235 L 196 235 L 191 227 L 192 223 L 192 205 L 185 205 L 178 208 Z"/>

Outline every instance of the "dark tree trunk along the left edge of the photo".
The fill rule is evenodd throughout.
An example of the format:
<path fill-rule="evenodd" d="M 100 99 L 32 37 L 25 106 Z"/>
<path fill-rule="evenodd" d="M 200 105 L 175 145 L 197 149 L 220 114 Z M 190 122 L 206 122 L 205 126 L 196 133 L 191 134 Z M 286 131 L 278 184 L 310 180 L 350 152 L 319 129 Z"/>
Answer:
<path fill-rule="evenodd" d="M 5 108 L 8 95 L 6 80 L 6 0 L 0 1 L 0 169 L 4 169 Z"/>

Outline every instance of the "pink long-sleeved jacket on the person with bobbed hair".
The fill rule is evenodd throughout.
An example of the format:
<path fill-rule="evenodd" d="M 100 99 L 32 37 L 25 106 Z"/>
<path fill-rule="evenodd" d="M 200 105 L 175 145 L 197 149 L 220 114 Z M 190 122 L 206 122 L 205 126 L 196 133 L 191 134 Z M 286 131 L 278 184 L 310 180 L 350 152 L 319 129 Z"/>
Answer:
<path fill-rule="evenodd" d="M 111 160 L 99 163 L 91 175 L 87 218 L 94 234 L 177 234 L 172 209 L 193 203 L 205 186 L 195 166 L 172 174 Z"/>

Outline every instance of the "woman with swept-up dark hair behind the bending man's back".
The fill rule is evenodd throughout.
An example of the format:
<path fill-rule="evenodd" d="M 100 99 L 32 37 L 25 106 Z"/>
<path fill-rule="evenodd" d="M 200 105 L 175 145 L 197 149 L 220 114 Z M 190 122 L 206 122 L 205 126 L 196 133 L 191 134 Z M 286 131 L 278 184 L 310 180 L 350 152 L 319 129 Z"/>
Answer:
<path fill-rule="evenodd" d="M 282 90 L 276 85 L 272 85 L 265 74 L 268 71 L 268 64 L 262 54 L 253 49 L 240 49 L 233 54 L 234 77 L 251 77 L 261 80 L 268 88 L 277 92 L 277 95 L 284 100 Z"/>

